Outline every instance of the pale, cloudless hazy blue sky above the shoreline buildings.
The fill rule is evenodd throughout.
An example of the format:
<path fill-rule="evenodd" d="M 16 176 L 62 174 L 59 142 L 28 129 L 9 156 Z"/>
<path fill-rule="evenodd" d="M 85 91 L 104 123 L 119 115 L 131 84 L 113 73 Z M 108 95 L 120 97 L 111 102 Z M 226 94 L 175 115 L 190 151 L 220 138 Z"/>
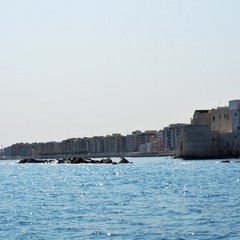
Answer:
<path fill-rule="evenodd" d="M 189 123 L 240 99 L 239 0 L 0 0 L 0 145 Z"/>

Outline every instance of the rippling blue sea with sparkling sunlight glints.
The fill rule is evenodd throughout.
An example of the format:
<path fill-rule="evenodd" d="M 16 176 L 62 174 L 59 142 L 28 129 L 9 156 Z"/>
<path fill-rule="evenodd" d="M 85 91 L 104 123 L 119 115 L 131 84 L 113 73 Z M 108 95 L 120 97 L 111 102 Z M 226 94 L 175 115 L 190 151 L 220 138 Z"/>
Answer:
<path fill-rule="evenodd" d="M 0 239 L 240 239 L 240 163 L 0 162 Z"/>

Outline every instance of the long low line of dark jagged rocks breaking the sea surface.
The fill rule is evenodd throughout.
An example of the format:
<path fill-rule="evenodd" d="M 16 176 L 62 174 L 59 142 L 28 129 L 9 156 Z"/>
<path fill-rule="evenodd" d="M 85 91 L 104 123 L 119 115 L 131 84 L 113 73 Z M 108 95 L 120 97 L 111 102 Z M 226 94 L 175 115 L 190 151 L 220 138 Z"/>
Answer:
<path fill-rule="evenodd" d="M 25 158 L 20 160 L 18 163 L 56 163 L 56 164 L 127 164 L 132 163 L 129 162 L 126 158 L 121 158 L 121 160 L 117 163 L 113 161 L 111 158 L 104 158 L 101 160 L 93 160 L 90 158 L 82 158 L 82 157 L 73 157 L 73 158 L 64 158 L 64 159 L 34 159 L 34 158 Z"/>

